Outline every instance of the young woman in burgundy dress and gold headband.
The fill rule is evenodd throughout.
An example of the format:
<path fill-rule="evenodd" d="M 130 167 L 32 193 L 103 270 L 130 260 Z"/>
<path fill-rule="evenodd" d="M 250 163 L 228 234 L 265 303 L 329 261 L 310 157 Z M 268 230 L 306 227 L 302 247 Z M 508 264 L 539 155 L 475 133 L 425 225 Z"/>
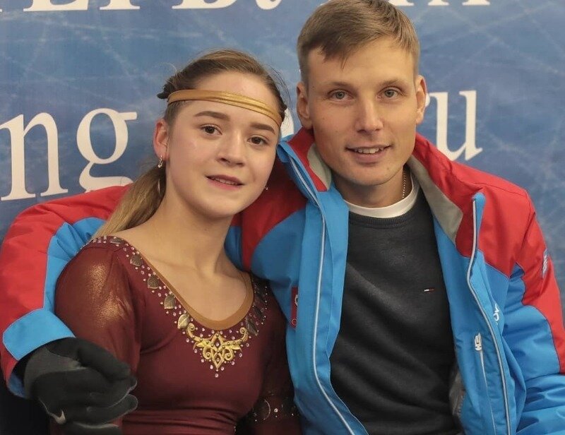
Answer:
<path fill-rule="evenodd" d="M 192 61 L 159 97 L 159 162 L 61 274 L 57 316 L 130 364 L 126 435 L 299 434 L 285 318 L 223 247 L 234 214 L 266 189 L 285 103 L 233 50 Z"/>

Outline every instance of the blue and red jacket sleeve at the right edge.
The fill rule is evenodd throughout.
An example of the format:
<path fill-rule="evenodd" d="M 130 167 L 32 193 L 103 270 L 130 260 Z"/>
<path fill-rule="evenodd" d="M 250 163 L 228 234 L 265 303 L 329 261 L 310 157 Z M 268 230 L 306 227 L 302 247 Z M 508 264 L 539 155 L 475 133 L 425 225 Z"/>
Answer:
<path fill-rule="evenodd" d="M 521 371 L 519 435 L 565 434 L 565 330 L 559 288 L 531 213 L 511 274 L 504 338 Z"/>

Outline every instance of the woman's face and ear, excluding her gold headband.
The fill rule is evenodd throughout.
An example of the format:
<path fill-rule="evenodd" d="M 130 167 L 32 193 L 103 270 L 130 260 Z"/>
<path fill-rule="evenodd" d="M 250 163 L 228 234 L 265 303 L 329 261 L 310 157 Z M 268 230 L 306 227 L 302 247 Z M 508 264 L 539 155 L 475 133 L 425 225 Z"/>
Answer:
<path fill-rule="evenodd" d="M 250 74 L 219 73 L 201 80 L 198 89 L 245 95 L 278 108 L 273 93 Z M 231 217 L 265 188 L 278 137 L 278 125 L 264 114 L 219 102 L 186 102 L 172 126 L 158 121 L 155 129 L 155 150 L 167 164 L 165 198 L 211 219 Z"/>

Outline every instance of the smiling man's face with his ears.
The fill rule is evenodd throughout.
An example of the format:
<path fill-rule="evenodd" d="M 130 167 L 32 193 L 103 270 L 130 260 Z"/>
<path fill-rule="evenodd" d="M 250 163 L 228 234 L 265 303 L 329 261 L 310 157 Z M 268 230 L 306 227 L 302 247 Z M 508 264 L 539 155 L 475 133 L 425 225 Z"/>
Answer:
<path fill-rule="evenodd" d="M 347 57 L 308 57 L 308 87 L 297 87 L 302 125 L 346 201 L 383 207 L 400 199 L 402 168 L 424 117 L 426 84 L 412 55 L 389 38 Z"/>

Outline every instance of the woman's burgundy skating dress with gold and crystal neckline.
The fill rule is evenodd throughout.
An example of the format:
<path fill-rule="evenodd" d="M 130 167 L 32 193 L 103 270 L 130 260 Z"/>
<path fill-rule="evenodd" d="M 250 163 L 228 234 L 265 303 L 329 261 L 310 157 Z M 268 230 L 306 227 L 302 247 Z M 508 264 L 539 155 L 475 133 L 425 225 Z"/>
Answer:
<path fill-rule="evenodd" d="M 225 321 L 200 316 L 133 246 L 87 244 L 57 284 L 56 313 L 77 337 L 127 362 L 138 408 L 125 435 L 299 434 L 285 318 L 266 282 Z"/>

